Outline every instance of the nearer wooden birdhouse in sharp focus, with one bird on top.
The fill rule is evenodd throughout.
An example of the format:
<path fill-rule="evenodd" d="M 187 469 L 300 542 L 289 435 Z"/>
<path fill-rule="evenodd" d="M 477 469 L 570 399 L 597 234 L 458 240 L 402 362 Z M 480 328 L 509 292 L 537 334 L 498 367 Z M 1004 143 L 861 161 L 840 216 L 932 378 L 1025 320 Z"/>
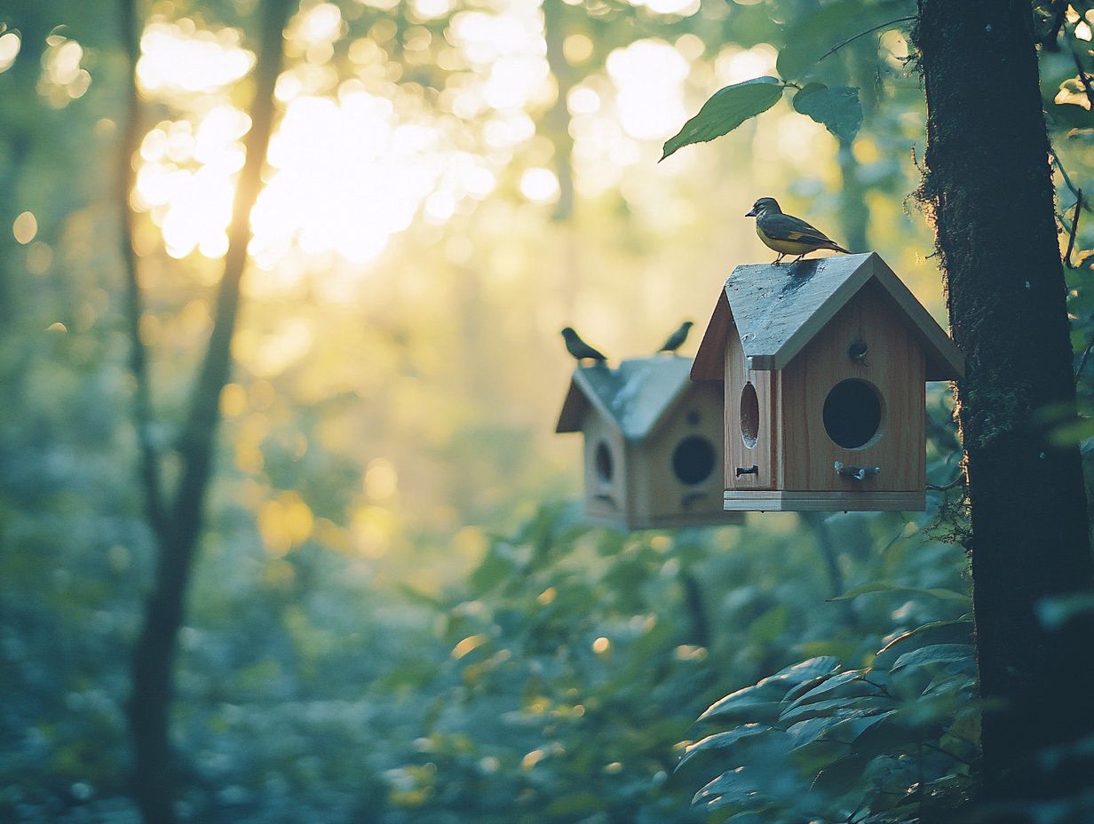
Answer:
<path fill-rule="evenodd" d="M 963 374 L 876 254 L 738 266 L 691 369 L 722 384 L 725 509 L 926 509 L 924 383 Z"/>

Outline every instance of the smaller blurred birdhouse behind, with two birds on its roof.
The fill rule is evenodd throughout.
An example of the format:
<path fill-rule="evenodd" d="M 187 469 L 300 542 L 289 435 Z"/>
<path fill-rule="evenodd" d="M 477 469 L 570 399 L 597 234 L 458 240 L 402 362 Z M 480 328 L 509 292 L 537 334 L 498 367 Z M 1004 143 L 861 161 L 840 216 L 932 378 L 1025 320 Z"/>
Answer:
<path fill-rule="evenodd" d="M 585 515 L 628 530 L 742 523 L 722 508 L 722 395 L 691 359 L 578 367 L 556 432 L 584 434 Z"/>

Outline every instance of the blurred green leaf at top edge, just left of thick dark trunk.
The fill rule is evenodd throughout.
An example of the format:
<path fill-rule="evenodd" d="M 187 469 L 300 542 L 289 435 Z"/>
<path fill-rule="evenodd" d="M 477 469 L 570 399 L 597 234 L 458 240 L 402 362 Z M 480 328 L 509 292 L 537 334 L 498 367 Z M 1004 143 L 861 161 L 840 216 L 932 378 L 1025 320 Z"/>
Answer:
<path fill-rule="evenodd" d="M 814 69 L 817 61 L 835 46 L 874 26 L 915 13 L 912 0 L 836 0 L 812 13 L 796 15 L 787 27 L 787 43 L 779 50 L 776 68 L 780 77 L 793 80 Z M 897 25 L 893 23 L 894 28 Z M 878 28 L 876 34 L 866 36 L 873 36 L 876 44 L 876 37 L 883 31 Z M 824 67 L 825 62 L 819 67 Z"/>

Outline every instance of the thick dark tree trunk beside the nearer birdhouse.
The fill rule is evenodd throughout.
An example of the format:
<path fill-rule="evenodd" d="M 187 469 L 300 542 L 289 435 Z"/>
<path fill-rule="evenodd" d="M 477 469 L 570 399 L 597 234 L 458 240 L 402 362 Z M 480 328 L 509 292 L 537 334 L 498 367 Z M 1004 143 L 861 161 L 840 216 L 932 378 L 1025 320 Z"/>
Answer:
<path fill-rule="evenodd" d="M 921 194 L 967 359 L 980 790 L 1051 797 L 1087 778 L 1074 765 L 1046 774 L 1036 756 L 1094 731 L 1091 635 L 1080 622 L 1051 631 L 1037 607 L 1089 588 L 1092 564 L 1079 451 L 1052 446 L 1040 417 L 1073 415 L 1074 383 L 1033 19 L 1028 0 L 919 0 L 919 12 Z"/>

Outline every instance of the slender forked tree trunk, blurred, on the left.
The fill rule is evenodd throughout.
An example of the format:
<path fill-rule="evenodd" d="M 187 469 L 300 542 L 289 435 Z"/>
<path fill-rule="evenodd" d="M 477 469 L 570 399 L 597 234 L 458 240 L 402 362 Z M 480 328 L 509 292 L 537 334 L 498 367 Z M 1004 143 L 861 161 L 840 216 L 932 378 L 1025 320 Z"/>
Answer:
<path fill-rule="evenodd" d="M 258 62 L 255 67 L 255 97 L 251 109 L 251 131 L 246 139 L 246 161 L 236 187 L 229 249 L 220 281 L 212 334 L 197 383 L 190 395 L 190 409 L 179 439 L 182 476 L 170 502 L 160 491 L 159 461 L 146 437 L 151 416 L 151 396 L 147 365 L 138 334 L 141 301 L 136 260 L 129 241 L 127 259 L 130 334 L 135 353 L 131 367 L 137 379 L 137 425 L 141 429 L 141 478 L 144 484 L 149 520 L 156 541 L 158 566 L 152 593 L 146 607 L 144 627 L 132 660 L 132 693 L 129 699 L 129 727 L 133 744 L 133 794 L 147 824 L 175 821 L 175 768 L 168 738 L 168 709 L 172 699 L 172 671 L 178 629 L 183 624 L 186 588 L 189 583 L 201 534 L 202 510 L 211 475 L 217 427 L 220 422 L 220 392 L 231 368 L 231 341 L 240 305 L 240 281 L 247 260 L 251 240 L 249 216 L 261 187 L 260 173 L 266 160 L 274 124 L 274 86 L 282 66 L 282 33 L 295 0 L 266 0 L 261 12 Z M 127 43 L 135 37 L 133 0 L 121 0 Z M 128 54 L 135 57 L 133 46 Z M 130 67 L 132 68 L 132 67 Z M 135 94 L 135 93 L 133 93 Z M 136 97 L 130 101 L 130 118 L 137 113 Z M 126 200 L 131 185 L 129 161 L 136 147 L 137 131 L 127 130 L 131 141 L 123 165 L 123 219 L 131 229 Z"/>

